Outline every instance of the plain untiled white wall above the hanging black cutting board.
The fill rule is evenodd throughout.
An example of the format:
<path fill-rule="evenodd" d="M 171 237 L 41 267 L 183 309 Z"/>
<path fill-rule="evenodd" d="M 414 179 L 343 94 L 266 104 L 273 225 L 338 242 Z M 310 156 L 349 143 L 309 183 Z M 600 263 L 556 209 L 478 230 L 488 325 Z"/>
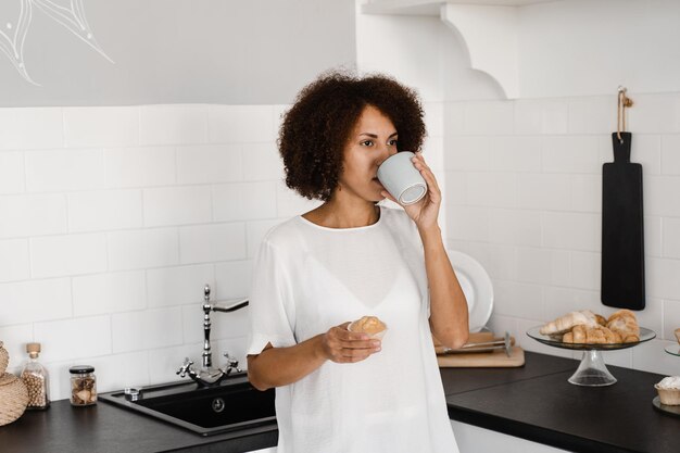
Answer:
<path fill-rule="evenodd" d="M 680 2 L 567 0 L 519 9 L 522 98 L 680 91 Z"/>

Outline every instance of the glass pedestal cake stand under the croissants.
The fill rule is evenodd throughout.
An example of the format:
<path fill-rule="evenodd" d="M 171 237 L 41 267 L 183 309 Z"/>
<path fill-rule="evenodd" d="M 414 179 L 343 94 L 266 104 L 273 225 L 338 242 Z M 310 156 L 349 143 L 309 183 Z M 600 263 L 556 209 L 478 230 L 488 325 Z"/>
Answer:
<path fill-rule="evenodd" d="M 527 335 L 540 343 L 547 344 L 553 348 L 571 349 L 575 351 L 583 351 L 583 358 L 574 375 L 568 379 L 570 383 L 585 387 L 610 386 L 616 382 L 616 378 L 604 364 L 602 351 L 618 351 L 621 349 L 632 348 L 656 337 L 656 334 L 650 329 L 640 327 L 640 341 L 632 343 L 615 343 L 615 344 L 585 344 L 585 343 L 564 343 L 562 340 L 554 339 L 546 335 L 541 335 L 542 326 L 532 327 Z"/>

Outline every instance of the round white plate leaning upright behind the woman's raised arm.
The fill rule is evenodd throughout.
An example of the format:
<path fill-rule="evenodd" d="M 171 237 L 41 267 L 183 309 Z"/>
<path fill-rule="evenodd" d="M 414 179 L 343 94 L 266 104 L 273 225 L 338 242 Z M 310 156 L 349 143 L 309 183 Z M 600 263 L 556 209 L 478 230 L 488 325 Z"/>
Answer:
<path fill-rule="evenodd" d="M 484 268 L 470 255 L 448 250 L 451 265 L 467 299 L 470 332 L 480 331 L 493 311 L 493 286 Z"/>

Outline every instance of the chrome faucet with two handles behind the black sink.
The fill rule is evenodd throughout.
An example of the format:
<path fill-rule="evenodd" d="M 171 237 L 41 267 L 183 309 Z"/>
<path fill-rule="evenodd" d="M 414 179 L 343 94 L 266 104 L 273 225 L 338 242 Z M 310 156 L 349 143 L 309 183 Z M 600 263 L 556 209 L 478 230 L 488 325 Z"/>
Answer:
<path fill-rule="evenodd" d="M 199 370 L 193 369 L 193 362 L 189 360 L 189 357 L 185 358 L 184 364 L 177 370 L 177 375 L 179 377 L 185 377 L 187 374 L 189 377 L 194 380 L 201 387 L 210 387 L 217 386 L 225 379 L 231 372 L 242 373 L 240 369 L 239 361 L 235 357 L 230 356 L 228 352 L 224 353 L 224 356 L 227 360 L 226 365 L 223 368 L 214 368 L 213 367 L 213 352 L 210 345 L 210 313 L 211 312 L 223 312 L 229 313 L 240 310 L 248 305 L 248 299 L 239 299 L 237 301 L 232 301 L 229 305 L 221 305 L 216 303 L 211 303 L 210 301 L 210 285 L 205 285 L 203 288 L 203 354 L 201 354 L 203 358 L 203 366 Z"/>

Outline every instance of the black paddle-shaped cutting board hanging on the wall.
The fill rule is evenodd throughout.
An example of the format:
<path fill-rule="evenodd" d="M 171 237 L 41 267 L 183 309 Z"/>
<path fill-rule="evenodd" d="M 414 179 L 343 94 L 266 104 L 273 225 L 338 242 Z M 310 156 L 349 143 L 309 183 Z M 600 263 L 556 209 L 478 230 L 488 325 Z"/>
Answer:
<path fill-rule="evenodd" d="M 602 166 L 602 303 L 644 309 L 642 165 L 630 162 L 632 135 L 612 134 L 614 162 Z"/>

